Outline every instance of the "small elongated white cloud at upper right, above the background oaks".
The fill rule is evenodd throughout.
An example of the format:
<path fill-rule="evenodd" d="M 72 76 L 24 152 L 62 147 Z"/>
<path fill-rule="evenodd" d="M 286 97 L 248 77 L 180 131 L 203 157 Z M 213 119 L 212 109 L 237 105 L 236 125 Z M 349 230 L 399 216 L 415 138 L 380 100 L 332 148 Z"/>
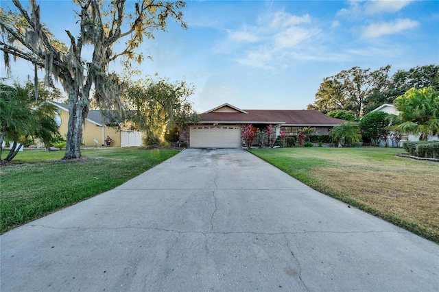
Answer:
<path fill-rule="evenodd" d="M 388 23 L 372 23 L 364 29 L 363 38 L 377 38 L 385 34 L 398 34 L 405 29 L 412 29 L 419 25 L 418 21 L 412 19 L 396 19 Z"/>

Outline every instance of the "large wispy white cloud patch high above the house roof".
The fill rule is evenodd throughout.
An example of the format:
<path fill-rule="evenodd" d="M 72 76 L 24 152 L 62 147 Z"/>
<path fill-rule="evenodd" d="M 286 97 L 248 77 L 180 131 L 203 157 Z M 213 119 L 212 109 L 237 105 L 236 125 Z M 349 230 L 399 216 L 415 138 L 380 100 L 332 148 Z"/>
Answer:
<path fill-rule="evenodd" d="M 261 69 L 283 68 L 305 55 L 306 60 L 312 60 L 314 57 L 306 53 L 307 46 L 321 34 L 309 14 L 296 16 L 283 10 L 263 14 L 254 25 L 227 32 L 227 40 L 214 50 L 233 55 L 239 64 Z"/>

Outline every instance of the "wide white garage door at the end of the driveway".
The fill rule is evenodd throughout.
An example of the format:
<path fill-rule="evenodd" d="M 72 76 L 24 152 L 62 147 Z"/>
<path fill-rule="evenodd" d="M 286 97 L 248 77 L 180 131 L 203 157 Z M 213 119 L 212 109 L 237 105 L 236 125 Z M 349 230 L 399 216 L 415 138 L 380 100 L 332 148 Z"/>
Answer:
<path fill-rule="evenodd" d="M 191 147 L 241 147 L 239 125 L 192 125 Z"/>

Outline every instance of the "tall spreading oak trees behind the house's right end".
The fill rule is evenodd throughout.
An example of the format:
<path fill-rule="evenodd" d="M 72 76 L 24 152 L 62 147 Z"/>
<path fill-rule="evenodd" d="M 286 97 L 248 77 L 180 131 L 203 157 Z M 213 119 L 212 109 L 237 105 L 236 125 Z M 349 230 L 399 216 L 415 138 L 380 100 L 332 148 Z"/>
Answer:
<path fill-rule="evenodd" d="M 350 110 L 361 117 L 382 104 L 392 104 L 396 97 L 410 88 L 432 86 L 439 90 L 439 66 L 416 66 L 389 75 L 390 65 L 376 71 L 353 67 L 334 76 L 325 77 L 316 93 L 316 101 L 308 109 L 329 113 Z"/>

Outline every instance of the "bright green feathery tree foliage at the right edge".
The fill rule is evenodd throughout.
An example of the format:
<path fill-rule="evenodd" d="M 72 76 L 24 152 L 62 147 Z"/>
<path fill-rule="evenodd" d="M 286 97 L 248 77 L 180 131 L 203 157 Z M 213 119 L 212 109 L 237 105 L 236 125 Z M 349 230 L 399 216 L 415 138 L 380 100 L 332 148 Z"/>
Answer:
<path fill-rule="evenodd" d="M 392 115 L 391 130 L 401 134 L 418 134 L 419 140 L 439 132 L 439 91 L 433 87 L 410 88 L 394 100 L 399 115 Z"/>

